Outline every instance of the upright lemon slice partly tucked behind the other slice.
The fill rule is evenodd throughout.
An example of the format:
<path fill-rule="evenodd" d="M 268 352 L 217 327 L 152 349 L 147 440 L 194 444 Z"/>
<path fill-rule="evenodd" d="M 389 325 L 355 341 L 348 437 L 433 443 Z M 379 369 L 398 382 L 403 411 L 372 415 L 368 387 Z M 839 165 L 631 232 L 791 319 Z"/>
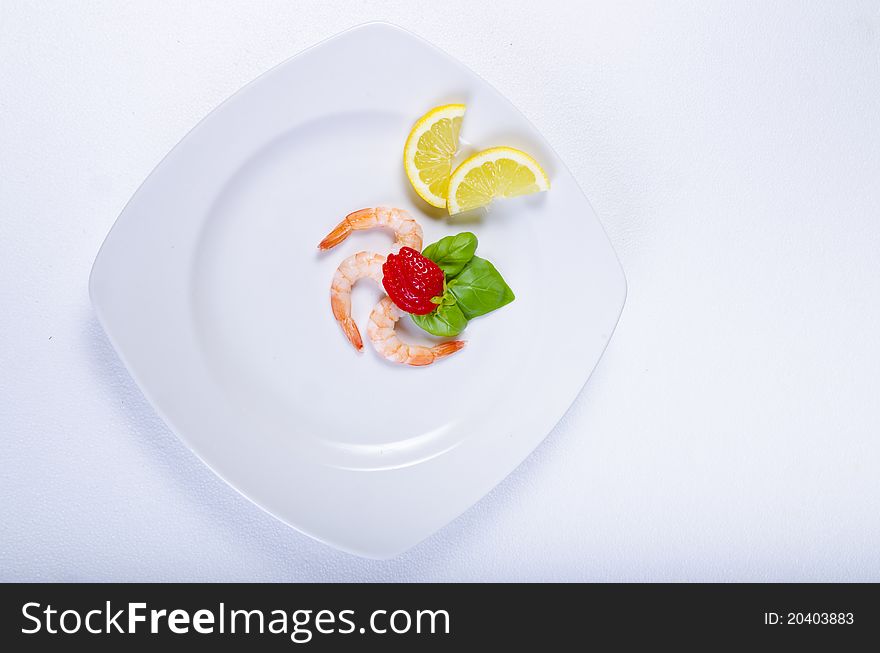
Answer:
<path fill-rule="evenodd" d="M 423 200 L 446 207 L 452 158 L 458 151 L 463 104 L 435 107 L 418 119 L 403 146 L 403 167 L 409 183 Z"/>

